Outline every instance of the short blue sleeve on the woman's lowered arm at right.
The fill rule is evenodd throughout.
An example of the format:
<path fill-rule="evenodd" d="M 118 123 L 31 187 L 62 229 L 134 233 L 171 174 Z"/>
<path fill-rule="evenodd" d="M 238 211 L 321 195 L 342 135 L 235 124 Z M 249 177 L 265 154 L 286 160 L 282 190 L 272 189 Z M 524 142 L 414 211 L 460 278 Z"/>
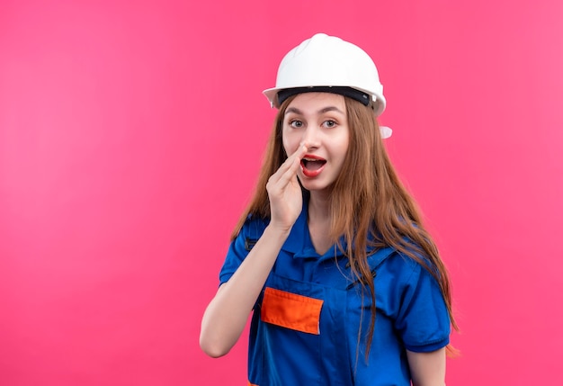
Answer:
<path fill-rule="evenodd" d="M 395 328 L 407 350 L 431 352 L 450 342 L 450 316 L 433 275 L 414 260 L 402 293 Z"/>

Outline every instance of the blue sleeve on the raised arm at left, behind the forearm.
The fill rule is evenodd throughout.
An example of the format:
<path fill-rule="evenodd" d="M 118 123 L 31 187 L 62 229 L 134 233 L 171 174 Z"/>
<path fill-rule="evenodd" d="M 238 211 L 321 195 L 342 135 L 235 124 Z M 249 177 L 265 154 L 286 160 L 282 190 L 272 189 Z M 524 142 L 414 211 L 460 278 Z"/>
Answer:
<path fill-rule="evenodd" d="M 264 220 L 253 219 L 251 216 L 248 217 L 237 238 L 231 241 L 228 247 L 225 263 L 223 263 L 219 271 L 219 285 L 227 283 L 228 279 L 235 274 L 248 255 L 248 252 L 250 252 L 258 238 L 264 233 L 265 227 L 266 223 Z"/>

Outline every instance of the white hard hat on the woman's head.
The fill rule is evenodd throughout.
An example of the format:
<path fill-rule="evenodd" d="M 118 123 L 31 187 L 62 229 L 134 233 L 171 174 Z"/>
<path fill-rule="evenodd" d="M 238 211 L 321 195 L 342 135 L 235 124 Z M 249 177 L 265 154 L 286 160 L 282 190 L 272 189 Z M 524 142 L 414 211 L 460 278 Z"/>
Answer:
<path fill-rule="evenodd" d="M 272 107 L 279 108 L 287 97 L 308 91 L 344 94 L 371 104 L 379 116 L 385 110 L 380 76 L 370 56 L 358 46 L 325 33 L 317 33 L 291 49 L 281 60 L 276 85 L 264 90 Z M 391 130 L 381 127 L 381 136 Z"/>

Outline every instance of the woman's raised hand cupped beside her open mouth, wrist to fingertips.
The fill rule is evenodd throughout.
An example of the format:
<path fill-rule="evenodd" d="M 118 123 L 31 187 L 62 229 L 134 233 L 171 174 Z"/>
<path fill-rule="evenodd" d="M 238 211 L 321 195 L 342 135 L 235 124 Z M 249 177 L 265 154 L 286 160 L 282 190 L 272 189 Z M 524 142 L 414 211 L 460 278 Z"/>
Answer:
<path fill-rule="evenodd" d="M 266 184 L 270 199 L 270 226 L 274 228 L 289 231 L 303 209 L 303 196 L 297 172 L 307 149 L 306 144 L 299 144 L 295 153 L 281 164 Z"/>

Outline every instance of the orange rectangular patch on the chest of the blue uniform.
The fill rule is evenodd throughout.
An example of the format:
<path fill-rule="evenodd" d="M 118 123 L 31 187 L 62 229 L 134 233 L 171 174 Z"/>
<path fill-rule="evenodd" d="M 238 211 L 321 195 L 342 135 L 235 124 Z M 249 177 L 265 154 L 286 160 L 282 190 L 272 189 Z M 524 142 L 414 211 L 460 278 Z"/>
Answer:
<path fill-rule="evenodd" d="M 276 326 L 319 335 L 318 323 L 322 306 L 323 301 L 319 299 L 267 287 L 264 290 L 260 317 Z"/>

